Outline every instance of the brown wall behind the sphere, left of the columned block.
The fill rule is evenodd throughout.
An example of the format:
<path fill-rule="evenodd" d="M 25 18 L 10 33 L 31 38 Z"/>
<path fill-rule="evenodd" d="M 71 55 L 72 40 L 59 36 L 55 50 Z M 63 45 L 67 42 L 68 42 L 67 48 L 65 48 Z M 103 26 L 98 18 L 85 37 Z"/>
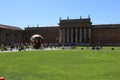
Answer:
<path fill-rule="evenodd" d="M 25 28 L 26 42 L 29 42 L 30 37 L 34 34 L 43 36 L 44 43 L 57 43 L 59 39 L 59 27 L 27 27 Z"/>

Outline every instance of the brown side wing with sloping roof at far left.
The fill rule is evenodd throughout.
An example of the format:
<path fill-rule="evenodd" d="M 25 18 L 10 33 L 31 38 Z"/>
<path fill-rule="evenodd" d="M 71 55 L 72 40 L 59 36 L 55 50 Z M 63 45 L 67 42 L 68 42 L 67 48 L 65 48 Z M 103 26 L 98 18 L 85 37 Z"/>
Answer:
<path fill-rule="evenodd" d="M 20 43 L 25 40 L 23 37 L 23 29 L 0 24 L 0 44 Z"/>

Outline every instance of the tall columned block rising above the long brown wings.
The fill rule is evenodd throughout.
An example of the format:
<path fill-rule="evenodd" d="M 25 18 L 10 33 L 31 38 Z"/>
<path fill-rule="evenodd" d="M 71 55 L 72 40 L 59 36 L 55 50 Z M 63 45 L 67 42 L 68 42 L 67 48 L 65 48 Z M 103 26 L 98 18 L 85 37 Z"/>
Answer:
<path fill-rule="evenodd" d="M 90 18 L 60 20 L 59 41 L 64 43 L 89 43 L 91 40 Z"/>

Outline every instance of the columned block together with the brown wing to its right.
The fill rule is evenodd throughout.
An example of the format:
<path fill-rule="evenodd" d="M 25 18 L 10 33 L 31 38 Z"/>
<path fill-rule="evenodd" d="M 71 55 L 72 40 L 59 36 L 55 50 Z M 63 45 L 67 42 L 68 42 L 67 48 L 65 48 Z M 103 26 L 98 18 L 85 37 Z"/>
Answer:
<path fill-rule="evenodd" d="M 65 19 L 59 23 L 59 41 L 74 44 L 120 44 L 120 24 L 92 25 L 91 19 Z"/>

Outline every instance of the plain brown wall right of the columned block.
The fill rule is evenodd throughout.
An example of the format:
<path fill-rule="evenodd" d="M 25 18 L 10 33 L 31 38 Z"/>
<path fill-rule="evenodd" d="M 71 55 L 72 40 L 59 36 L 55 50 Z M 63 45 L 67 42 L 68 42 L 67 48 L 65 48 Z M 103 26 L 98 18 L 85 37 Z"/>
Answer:
<path fill-rule="evenodd" d="M 91 35 L 93 44 L 120 44 L 120 24 L 93 25 Z"/>

